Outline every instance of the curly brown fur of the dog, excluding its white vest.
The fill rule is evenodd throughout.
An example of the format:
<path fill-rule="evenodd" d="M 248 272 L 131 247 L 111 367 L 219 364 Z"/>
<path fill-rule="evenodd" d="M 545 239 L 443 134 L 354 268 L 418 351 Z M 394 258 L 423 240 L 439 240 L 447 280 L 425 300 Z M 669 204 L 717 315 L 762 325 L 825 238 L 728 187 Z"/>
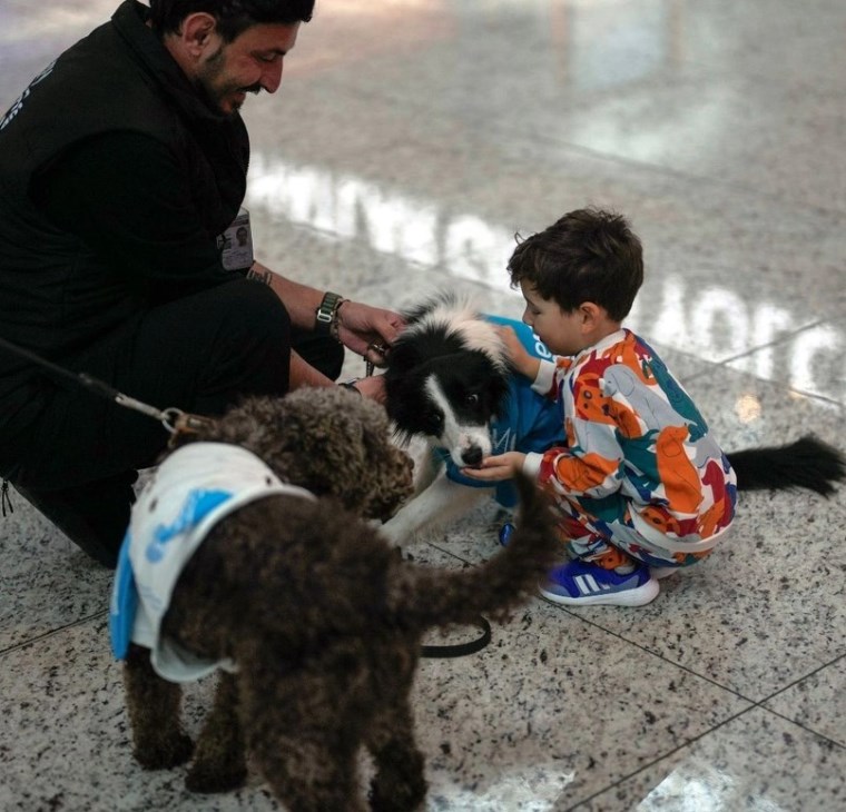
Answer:
<path fill-rule="evenodd" d="M 329 428 L 341 424 L 348 434 Z M 416 809 L 426 784 L 409 695 L 422 635 L 480 612 L 501 616 L 527 597 L 558 553 L 544 497 L 521 481 L 524 518 L 509 547 L 480 567 L 444 572 L 404 562 L 356 516 L 395 502 L 374 497 L 368 482 L 400 498 L 411 491 L 407 459 L 395 456 L 378 407 L 350 394 L 296 393 L 245 403 L 201 439 L 244 445 L 281 477 L 326 496 L 273 496 L 230 514 L 177 584 L 164 633 L 238 665 L 218 683 L 189 789 L 239 785 L 248 750 L 288 809 L 364 810 L 356 756 L 365 746 L 375 764 L 370 808 Z M 334 465 L 317 461 L 329 454 Z M 138 646 L 126 674 L 138 760 L 148 768 L 187 760 L 178 687 Z"/>

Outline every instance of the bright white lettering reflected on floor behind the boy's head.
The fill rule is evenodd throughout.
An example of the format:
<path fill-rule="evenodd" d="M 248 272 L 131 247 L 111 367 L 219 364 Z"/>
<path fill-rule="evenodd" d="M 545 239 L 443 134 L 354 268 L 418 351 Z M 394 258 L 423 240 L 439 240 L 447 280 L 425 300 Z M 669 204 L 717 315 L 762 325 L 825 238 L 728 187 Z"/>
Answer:
<path fill-rule="evenodd" d="M 437 200 L 352 174 L 260 154 L 250 165 L 247 205 L 327 237 L 363 240 L 375 251 L 518 295 L 504 270 L 514 234 L 472 211 L 450 211 Z M 627 324 L 650 340 L 833 402 L 846 395 L 843 379 L 827 375 L 844 347 L 844 335 L 834 326 L 808 325 L 807 314 L 803 321 L 796 310 L 760 300 L 755 291 L 701 289 L 676 274 L 648 281 L 645 290 L 648 297 L 639 297 Z M 789 344 L 778 344 L 791 334 Z M 749 347 L 760 349 L 750 355 Z"/>

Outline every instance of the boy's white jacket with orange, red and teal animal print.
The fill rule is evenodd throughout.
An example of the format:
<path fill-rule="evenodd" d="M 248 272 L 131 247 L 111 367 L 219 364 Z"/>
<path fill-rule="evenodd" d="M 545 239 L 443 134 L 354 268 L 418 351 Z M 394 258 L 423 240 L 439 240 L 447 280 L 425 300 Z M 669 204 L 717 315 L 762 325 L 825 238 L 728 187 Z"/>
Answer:
<path fill-rule="evenodd" d="M 567 446 L 525 468 L 591 523 L 628 513 L 671 551 L 709 549 L 735 515 L 735 473 L 690 396 L 628 329 L 541 362 L 532 385 L 560 402 Z"/>

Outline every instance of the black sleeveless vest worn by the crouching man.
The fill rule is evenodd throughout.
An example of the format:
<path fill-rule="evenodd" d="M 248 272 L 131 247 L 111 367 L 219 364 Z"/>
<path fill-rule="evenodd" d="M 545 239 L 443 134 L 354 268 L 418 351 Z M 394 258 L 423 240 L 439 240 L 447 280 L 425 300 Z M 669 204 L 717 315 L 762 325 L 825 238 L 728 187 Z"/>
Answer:
<path fill-rule="evenodd" d="M 244 199 L 242 119 L 204 102 L 145 24 L 147 13 L 126 0 L 0 119 L 0 335 L 58 362 L 142 314 L 155 291 L 41 215 L 29 195 L 38 174 L 83 139 L 130 131 L 161 141 L 184 167 L 210 245 Z M 0 428 L 30 410 L 21 385 L 33 372 L 0 351 Z"/>

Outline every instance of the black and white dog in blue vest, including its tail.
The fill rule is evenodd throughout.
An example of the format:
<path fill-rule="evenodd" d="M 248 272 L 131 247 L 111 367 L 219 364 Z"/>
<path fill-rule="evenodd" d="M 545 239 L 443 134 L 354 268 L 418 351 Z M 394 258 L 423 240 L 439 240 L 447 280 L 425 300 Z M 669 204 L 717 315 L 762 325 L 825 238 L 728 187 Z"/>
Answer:
<path fill-rule="evenodd" d="M 485 496 L 513 504 L 510 483 L 485 486 L 462 477 L 460 468 L 492 453 L 542 452 L 564 443 L 554 405 L 539 405 L 530 383 L 512 373 L 496 330 L 503 323 L 522 328 L 518 335 L 527 348 L 551 357 L 525 325 L 483 317 L 451 295 L 404 315 L 407 328 L 387 356 L 386 409 L 401 440 L 422 438 L 430 452 L 415 468 L 415 496 L 383 525 L 395 543 L 463 515 Z M 813 436 L 728 457 L 739 491 L 800 487 L 828 496 L 846 476 L 844 456 Z"/>

